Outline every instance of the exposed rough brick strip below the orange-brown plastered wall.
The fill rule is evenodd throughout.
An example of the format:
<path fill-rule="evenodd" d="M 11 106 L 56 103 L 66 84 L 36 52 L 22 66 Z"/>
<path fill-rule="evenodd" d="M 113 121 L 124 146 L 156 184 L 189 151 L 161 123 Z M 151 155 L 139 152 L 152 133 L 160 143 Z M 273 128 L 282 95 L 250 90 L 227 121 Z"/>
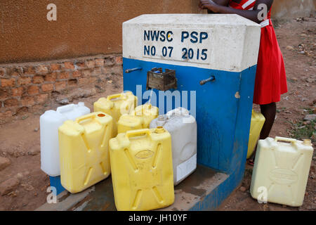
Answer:
<path fill-rule="evenodd" d="M 53 93 L 94 84 L 101 75 L 122 75 L 121 65 L 120 55 L 0 64 L 0 120 L 44 105 Z"/>

